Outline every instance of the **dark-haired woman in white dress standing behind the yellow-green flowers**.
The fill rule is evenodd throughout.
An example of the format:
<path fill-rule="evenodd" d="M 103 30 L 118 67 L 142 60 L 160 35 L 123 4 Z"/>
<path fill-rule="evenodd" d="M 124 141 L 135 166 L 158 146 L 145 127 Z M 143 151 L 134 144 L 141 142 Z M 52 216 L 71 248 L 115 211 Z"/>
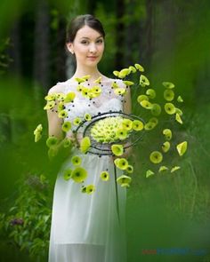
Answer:
<path fill-rule="evenodd" d="M 57 83 L 49 91 L 49 94 L 69 91 L 77 94 L 74 103 L 70 103 L 67 108 L 69 114 L 66 118 L 70 122 L 85 113 L 97 115 L 110 110 L 130 113 L 129 91 L 122 101 L 122 97 L 115 95 L 111 89 L 114 80 L 102 75 L 98 69 L 104 51 L 104 39 L 101 22 L 92 15 L 80 15 L 71 20 L 67 30 L 67 48 L 76 58 L 77 69 L 69 80 Z M 81 96 L 76 79 L 84 75 L 91 75 L 84 83 L 88 88 L 95 85 L 94 81 L 98 79 L 100 96 L 91 100 Z M 121 80 L 115 81 L 119 86 L 124 85 Z M 49 110 L 47 115 L 49 135 L 61 139 L 62 119 L 56 110 Z M 68 133 L 68 136 L 72 136 L 72 133 Z M 126 258 L 125 187 L 117 186 L 119 220 L 111 157 L 86 154 L 83 155 L 82 164 L 88 171 L 87 184 L 93 184 L 96 190 L 91 195 L 82 194 L 80 186 L 72 179 L 63 179 L 62 171 L 71 166 L 70 160 L 64 163 L 54 188 L 49 261 L 123 262 Z M 109 171 L 108 181 L 101 180 L 101 171 Z"/>

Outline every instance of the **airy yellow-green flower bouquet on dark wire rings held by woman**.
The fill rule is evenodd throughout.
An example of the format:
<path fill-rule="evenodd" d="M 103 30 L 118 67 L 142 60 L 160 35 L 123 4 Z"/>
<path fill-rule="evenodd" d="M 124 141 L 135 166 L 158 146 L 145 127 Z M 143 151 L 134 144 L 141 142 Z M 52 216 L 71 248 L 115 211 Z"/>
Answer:
<path fill-rule="evenodd" d="M 46 105 L 45 110 L 57 110 L 58 117 L 63 119 L 61 129 L 66 133 L 65 139 L 59 141 L 57 138 L 51 136 L 46 140 L 46 146 L 49 147 L 49 155 L 55 157 L 58 150 L 62 147 L 73 148 L 79 147 L 82 154 L 96 154 L 96 155 L 110 155 L 114 156 L 113 164 L 115 169 L 123 171 L 123 175 L 116 178 L 116 183 L 121 187 L 130 187 L 132 182 L 133 166 L 124 157 L 125 149 L 132 147 L 136 144 L 142 134 L 145 132 L 154 130 L 161 121 L 160 116 L 165 115 L 169 117 L 169 122 L 182 124 L 182 110 L 177 105 L 182 104 L 183 99 L 180 95 L 176 96 L 174 92 L 174 83 L 163 82 L 163 98 L 164 105 L 160 105 L 155 102 L 158 95 L 158 91 L 149 88 L 149 79 L 146 75 L 143 75 L 144 68 L 140 64 L 135 64 L 124 68 L 120 71 L 114 71 L 113 74 L 121 79 L 123 86 L 119 86 L 116 81 L 111 83 L 111 89 L 116 96 L 121 98 L 125 97 L 128 88 L 138 88 L 140 94 L 137 97 L 137 103 L 149 113 L 149 120 L 142 119 L 139 115 L 126 115 L 123 112 L 107 112 L 101 115 L 90 115 L 86 113 L 83 118 L 81 116 L 76 117 L 72 122 L 66 120 L 68 111 L 66 106 L 69 103 L 74 103 L 74 99 L 77 97 L 76 92 L 54 93 L 45 97 Z M 134 83 L 129 79 L 129 75 L 139 74 L 139 82 Z M 85 75 L 81 78 L 76 78 L 77 92 L 85 99 L 95 99 L 101 95 L 101 77 L 95 81 L 93 87 L 86 87 L 85 82 L 88 81 L 90 75 Z M 168 122 L 168 123 L 169 123 Z M 77 139 L 77 134 L 82 138 Z M 69 137 L 69 131 L 72 131 L 73 138 Z M 41 139 L 43 133 L 42 124 L 38 124 L 34 131 L 35 142 Z M 178 171 L 181 167 L 179 165 L 166 166 L 164 163 L 165 155 L 176 151 L 176 154 L 182 156 L 185 154 L 188 142 L 180 141 L 172 147 L 174 131 L 172 128 L 166 126 L 162 130 L 160 139 L 163 143 L 161 147 L 150 152 L 148 156 L 148 163 L 153 165 L 153 168 L 146 171 L 146 178 L 154 176 L 156 173 L 162 173 L 169 171 L 173 173 Z M 114 160 L 115 159 L 115 160 Z M 81 192 L 86 194 L 92 194 L 97 188 L 94 185 L 84 185 L 84 181 L 88 176 L 87 171 L 81 166 L 82 157 L 79 155 L 73 155 L 71 158 L 73 164 L 72 169 L 68 169 L 63 173 L 63 179 L 72 179 L 76 183 L 81 183 Z M 109 180 L 109 172 L 102 171 L 99 174 L 102 181 Z"/>

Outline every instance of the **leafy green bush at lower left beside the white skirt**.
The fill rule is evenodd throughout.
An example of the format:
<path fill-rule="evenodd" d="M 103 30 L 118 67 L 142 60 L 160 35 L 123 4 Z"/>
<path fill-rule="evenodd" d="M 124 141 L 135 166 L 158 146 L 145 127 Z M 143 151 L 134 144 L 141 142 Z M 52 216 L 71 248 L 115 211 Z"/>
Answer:
<path fill-rule="evenodd" d="M 51 225 L 49 199 L 49 181 L 44 175 L 29 175 L 20 181 L 12 206 L 0 213 L 1 235 L 8 244 L 12 243 L 20 251 L 28 251 L 30 258 L 46 258 L 48 252 Z"/>

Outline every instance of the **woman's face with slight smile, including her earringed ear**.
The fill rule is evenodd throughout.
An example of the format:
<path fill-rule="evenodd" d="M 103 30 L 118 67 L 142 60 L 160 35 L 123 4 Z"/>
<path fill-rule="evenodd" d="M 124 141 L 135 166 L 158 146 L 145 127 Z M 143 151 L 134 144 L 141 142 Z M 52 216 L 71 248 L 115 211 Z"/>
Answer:
<path fill-rule="evenodd" d="M 98 31 L 84 26 L 77 31 L 73 43 L 68 44 L 76 55 L 77 66 L 96 67 L 104 51 L 104 39 Z"/>

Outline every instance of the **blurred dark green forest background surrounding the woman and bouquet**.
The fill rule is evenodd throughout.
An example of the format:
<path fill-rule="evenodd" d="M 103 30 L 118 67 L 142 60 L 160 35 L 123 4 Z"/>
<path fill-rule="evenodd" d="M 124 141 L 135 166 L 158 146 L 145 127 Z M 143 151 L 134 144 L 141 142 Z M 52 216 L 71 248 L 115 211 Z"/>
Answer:
<path fill-rule="evenodd" d="M 155 131 L 133 149 L 128 262 L 210 261 L 208 0 L 1 0 L 0 261 L 47 261 L 61 161 L 49 162 L 44 139 L 36 145 L 33 131 L 43 123 L 47 137 L 44 96 L 74 71 L 65 28 L 82 13 L 98 17 L 107 32 L 103 74 L 113 77 L 114 69 L 138 62 L 152 87 L 160 90 L 163 81 L 171 81 L 184 99 L 177 136 L 188 141 L 189 150 L 180 171 L 146 179 L 145 155 L 159 139 Z M 136 114 L 137 94 L 133 89 Z"/>

